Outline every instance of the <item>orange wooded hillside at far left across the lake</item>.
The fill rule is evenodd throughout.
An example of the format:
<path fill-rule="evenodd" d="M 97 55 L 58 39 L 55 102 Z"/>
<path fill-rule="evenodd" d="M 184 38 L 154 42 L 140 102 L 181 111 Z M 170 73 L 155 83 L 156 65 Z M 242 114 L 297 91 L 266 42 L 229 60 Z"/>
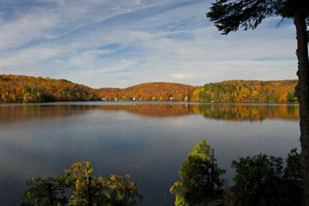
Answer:
<path fill-rule="evenodd" d="M 1 102 L 100 100 L 94 89 L 68 80 L 0 75 Z"/>

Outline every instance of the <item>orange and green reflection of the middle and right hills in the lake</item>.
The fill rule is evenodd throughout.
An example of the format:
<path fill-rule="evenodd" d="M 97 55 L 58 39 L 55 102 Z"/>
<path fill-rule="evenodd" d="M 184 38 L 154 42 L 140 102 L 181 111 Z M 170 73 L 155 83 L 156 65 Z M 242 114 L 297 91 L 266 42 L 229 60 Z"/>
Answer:
<path fill-rule="evenodd" d="M 150 117 L 203 115 L 228 121 L 262 121 L 264 119 L 298 119 L 299 106 L 250 104 L 139 104 L 104 105 L 104 110 L 122 110 Z"/>

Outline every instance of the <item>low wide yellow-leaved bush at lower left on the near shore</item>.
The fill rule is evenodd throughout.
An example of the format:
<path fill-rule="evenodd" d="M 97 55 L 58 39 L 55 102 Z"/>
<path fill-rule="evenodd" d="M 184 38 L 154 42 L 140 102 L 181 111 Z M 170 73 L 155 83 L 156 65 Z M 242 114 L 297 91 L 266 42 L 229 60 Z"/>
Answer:
<path fill-rule="evenodd" d="M 30 179 L 23 205 L 137 205 L 141 196 L 130 176 L 91 174 L 89 161 L 76 161 L 56 177 Z"/>

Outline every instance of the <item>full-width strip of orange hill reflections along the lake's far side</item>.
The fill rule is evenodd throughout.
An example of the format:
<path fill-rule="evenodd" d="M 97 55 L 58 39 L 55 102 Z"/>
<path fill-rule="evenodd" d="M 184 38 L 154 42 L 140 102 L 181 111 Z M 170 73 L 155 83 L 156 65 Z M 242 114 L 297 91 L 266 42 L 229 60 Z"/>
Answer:
<path fill-rule="evenodd" d="M 264 119 L 299 118 L 299 106 L 250 104 L 33 104 L 0 106 L 0 123 L 31 119 L 49 119 L 87 113 L 89 111 L 126 111 L 146 117 L 203 115 L 227 121 L 262 121 Z"/>

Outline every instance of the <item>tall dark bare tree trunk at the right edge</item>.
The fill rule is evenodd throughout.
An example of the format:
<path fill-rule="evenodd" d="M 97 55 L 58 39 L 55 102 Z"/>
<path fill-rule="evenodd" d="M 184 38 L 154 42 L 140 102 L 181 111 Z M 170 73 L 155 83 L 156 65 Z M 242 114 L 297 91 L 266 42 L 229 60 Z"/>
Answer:
<path fill-rule="evenodd" d="M 295 95 L 299 100 L 301 130 L 301 164 L 304 174 L 304 204 L 309 205 L 309 60 L 306 19 L 300 12 L 295 14 L 297 38 L 298 84 Z"/>

